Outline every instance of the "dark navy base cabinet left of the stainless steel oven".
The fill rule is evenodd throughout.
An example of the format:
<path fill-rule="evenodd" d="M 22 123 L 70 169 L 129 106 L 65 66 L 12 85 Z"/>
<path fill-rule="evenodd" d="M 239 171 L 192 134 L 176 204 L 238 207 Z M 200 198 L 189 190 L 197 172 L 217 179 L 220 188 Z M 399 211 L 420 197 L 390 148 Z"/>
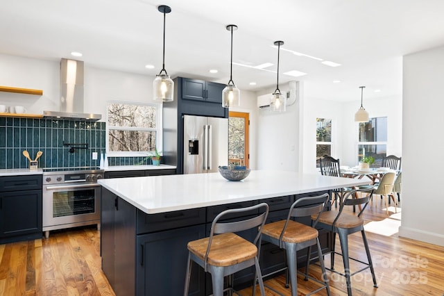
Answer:
<path fill-rule="evenodd" d="M 0 243 L 42 237 L 42 175 L 0 177 Z"/>

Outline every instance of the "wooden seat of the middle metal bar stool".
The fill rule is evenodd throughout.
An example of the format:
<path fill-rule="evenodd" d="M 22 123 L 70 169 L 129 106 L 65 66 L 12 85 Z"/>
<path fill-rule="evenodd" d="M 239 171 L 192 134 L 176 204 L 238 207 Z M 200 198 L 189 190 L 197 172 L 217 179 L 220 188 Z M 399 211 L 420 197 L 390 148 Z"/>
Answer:
<path fill-rule="evenodd" d="M 285 222 L 285 220 L 281 220 L 265 224 L 262 233 L 279 240 Z M 313 227 L 309 227 L 308 225 L 299 222 L 289 221 L 287 229 L 285 229 L 284 235 L 282 236 L 282 241 L 296 244 L 306 242 L 307 240 L 313 240 L 317 237 L 318 231 Z"/>

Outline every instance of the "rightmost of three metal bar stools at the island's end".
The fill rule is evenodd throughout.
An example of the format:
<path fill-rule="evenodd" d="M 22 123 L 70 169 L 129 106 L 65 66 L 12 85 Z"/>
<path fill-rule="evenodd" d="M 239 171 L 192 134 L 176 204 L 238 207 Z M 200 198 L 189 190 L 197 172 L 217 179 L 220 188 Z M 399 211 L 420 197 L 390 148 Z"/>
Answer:
<path fill-rule="evenodd" d="M 360 195 L 356 195 L 358 192 L 360 193 Z M 362 196 L 363 193 L 365 193 L 366 196 L 363 197 Z M 361 218 L 361 214 L 364 212 L 364 209 L 366 208 L 369 200 L 372 197 L 373 197 L 373 188 L 361 188 L 361 189 L 352 190 L 344 195 L 343 201 L 341 202 L 341 206 L 339 207 L 339 211 L 323 212 L 321 213 L 320 216 L 311 215 L 311 220 L 318 221 L 318 227 L 332 231 L 332 251 L 326 253 L 326 254 L 331 254 L 330 258 L 331 268 L 327 268 L 327 270 L 336 272 L 336 270 L 334 270 L 334 254 L 341 255 L 343 258 L 345 274 L 342 274 L 341 272 L 336 272 L 336 273 L 341 274 L 343 277 L 345 277 L 345 281 L 347 283 L 348 295 L 352 295 L 352 286 L 351 286 L 350 277 L 368 268 L 370 268 L 370 272 L 373 277 L 373 286 L 377 288 L 375 270 L 373 269 L 372 258 L 370 256 L 370 249 L 368 249 L 368 242 L 366 238 L 366 233 L 364 231 L 364 220 Z M 362 207 L 361 211 L 359 211 L 358 215 L 355 215 L 353 213 L 343 212 L 344 206 L 358 206 L 363 204 L 364 206 Z M 355 233 L 357 231 L 361 231 L 361 236 L 362 240 L 364 241 L 364 247 L 366 249 L 368 263 L 359 261 L 356 258 L 351 258 L 348 255 L 348 235 Z M 334 245 L 336 242 L 336 233 L 339 234 L 339 242 L 341 242 L 342 254 L 334 251 Z M 366 267 L 350 274 L 350 259 L 362 263 L 366 265 Z M 311 259 L 307 256 L 307 267 L 309 265 L 310 260 Z"/>

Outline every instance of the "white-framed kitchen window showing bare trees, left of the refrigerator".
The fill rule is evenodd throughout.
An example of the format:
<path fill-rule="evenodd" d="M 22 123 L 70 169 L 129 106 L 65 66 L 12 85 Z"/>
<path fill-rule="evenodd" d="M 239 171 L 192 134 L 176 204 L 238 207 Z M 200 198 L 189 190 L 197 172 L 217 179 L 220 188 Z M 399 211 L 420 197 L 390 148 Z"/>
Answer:
<path fill-rule="evenodd" d="M 108 156 L 148 156 L 155 147 L 162 150 L 162 113 L 157 104 L 122 103 L 108 105 Z"/>

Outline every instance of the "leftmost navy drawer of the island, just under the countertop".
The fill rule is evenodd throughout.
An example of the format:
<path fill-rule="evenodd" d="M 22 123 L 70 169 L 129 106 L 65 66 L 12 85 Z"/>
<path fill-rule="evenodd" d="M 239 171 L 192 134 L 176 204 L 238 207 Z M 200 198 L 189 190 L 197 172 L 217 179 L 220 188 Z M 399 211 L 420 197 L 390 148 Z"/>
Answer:
<path fill-rule="evenodd" d="M 205 208 L 146 214 L 137 210 L 137 234 L 187 227 L 205 223 Z"/>

